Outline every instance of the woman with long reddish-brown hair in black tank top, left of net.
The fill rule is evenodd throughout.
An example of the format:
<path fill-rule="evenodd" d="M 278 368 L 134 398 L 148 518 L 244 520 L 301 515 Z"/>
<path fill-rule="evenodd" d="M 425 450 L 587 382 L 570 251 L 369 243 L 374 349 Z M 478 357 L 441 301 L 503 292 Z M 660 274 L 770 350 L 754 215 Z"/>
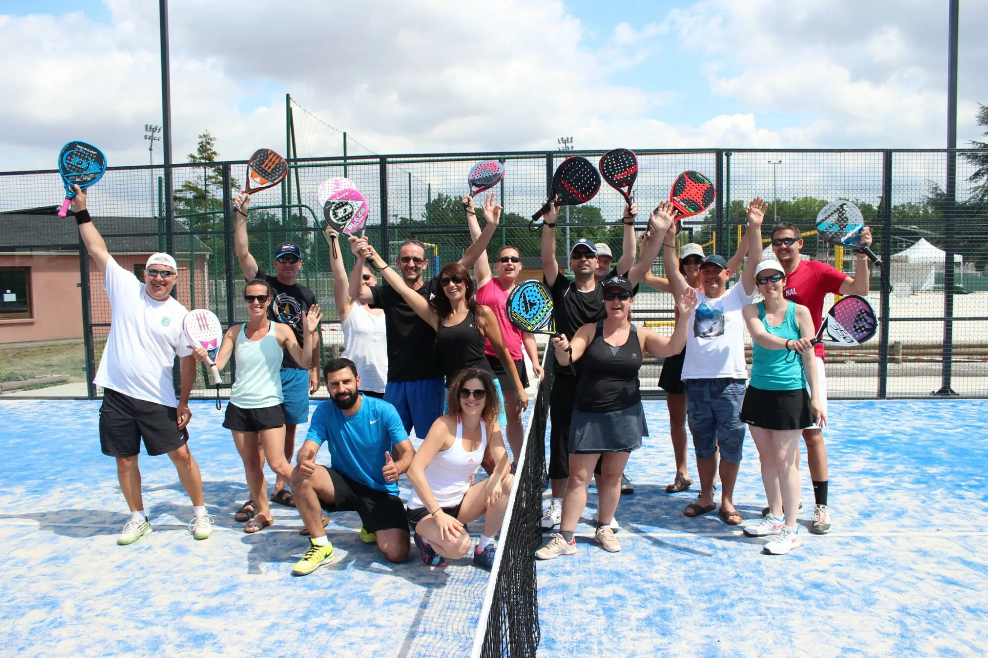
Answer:
<path fill-rule="evenodd" d="M 473 280 L 466 268 L 459 263 L 444 267 L 433 279 L 432 298 L 426 301 L 416 290 L 405 285 L 401 276 L 384 263 L 373 247 L 368 249 L 371 252 L 368 260 L 373 268 L 380 271 L 384 281 L 436 330 L 436 357 L 442 364 L 447 387 L 464 368 L 480 368 L 493 374 L 484 356 L 484 340 L 490 340 L 504 370 L 515 380 L 515 398 L 521 414 L 522 409 L 529 406 L 529 395 L 504 344 L 497 316 L 487 306 L 477 303 Z"/>

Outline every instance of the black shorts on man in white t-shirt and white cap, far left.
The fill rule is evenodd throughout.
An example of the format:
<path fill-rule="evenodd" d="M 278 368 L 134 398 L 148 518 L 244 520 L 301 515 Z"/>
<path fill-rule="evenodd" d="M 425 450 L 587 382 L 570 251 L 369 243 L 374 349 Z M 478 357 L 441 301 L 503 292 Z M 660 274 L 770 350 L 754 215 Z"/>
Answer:
<path fill-rule="evenodd" d="M 110 456 L 134 456 L 144 450 L 154 456 L 182 448 L 189 430 L 179 430 L 178 410 L 157 402 L 124 395 L 113 388 L 103 390 L 100 406 L 100 448 Z"/>

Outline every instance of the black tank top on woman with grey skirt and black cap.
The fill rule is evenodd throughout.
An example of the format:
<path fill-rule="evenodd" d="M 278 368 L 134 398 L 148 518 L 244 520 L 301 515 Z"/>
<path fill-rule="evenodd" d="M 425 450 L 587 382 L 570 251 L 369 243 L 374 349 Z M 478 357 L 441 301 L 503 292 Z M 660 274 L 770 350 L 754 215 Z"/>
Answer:
<path fill-rule="evenodd" d="M 614 348 L 604 341 L 604 321 L 598 322 L 594 340 L 577 363 L 582 367 L 575 400 L 580 411 L 620 411 L 641 401 L 641 347 L 633 324 L 627 341 Z"/>

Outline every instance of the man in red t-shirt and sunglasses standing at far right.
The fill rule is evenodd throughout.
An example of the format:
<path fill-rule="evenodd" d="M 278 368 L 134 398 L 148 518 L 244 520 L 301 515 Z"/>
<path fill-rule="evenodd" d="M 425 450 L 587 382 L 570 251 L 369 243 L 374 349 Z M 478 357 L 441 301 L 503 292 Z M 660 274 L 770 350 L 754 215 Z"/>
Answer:
<path fill-rule="evenodd" d="M 871 229 L 862 231 L 859 243 L 871 246 Z M 823 301 L 828 293 L 860 294 L 866 296 L 870 289 L 871 273 L 864 252 L 859 251 L 855 260 L 855 276 L 849 277 L 835 268 L 812 260 L 800 260 L 799 252 L 803 240 L 799 228 L 792 223 L 782 222 L 772 229 L 772 251 L 785 270 L 786 299 L 802 304 L 813 317 L 814 330 L 820 329 L 823 322 Z M 818 386 L 823 392 L 823 407 L 827 408 L 827 374 L 823 369 L 823 345 L 816 346 Z M 803 430 L 806 444 L 806 460 L 809 462 L 810 479 L 813 481 L 813 497 L 816 499 L 813 511 L 813 525 L 810 532 L 826 535 L 830 532 L 830 508 L 827 507 L 827 449 L 823 445 L 823 432 L 819 427 Z"/>

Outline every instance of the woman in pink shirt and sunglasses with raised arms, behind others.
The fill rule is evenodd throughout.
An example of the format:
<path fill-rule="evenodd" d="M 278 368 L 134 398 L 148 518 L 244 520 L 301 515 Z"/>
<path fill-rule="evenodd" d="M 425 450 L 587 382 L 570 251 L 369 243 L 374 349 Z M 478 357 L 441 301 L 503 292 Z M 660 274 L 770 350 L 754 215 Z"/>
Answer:
<path fill-rule="evenodd" d="M 473 198 L 463 197 L 463 204 L 466 205 L 466 221 L 470 226 L 470 236 L 479 235 L 480 225 L 477 223 L 477 213 L 473 205 Z M 501 206 L 494 203 L 494 195 L 492 193 L 487 194 L 487 198 L 484 200 L 483 211 L 488 215 L 488 218 L 491 215 L 501 216 Z M 475 234 L 474 230 L 476 230 Z M 518 279 L 518 275 L 522 273 L 521 253 L 515 247 L 501 247 L 495 267 L 497 268 L 496 277 L 493 276 L 490 264 L 487 262 L 486 251 L 477 259 L 476 265 L 473 266 L 473 273 L 477 279 L 477 303 L 488 306 L 494 311 L 498 325 L 501 327 L 501 335 L 504 337 L 504 343 L 508 348 L 508 352 L 511 354 L 512 361 L 515 362 L 515 368 L 518 369 L 518 375 L 522 383 L 528 386 L 529 373 L 525 369 L 523 348 L 529 353 L 529 359 L 532 361 L 535 376 L 539 378 L 542 376 L 542 369 L 538 364 L 538 349 L 535 346 L 535 336 L 523 333 L 511 324 L 508 321 L 507 311 L 508 295 L 515 288 L 515 280 Z M 504 370 L 504 366 L 501 365 L 501 361 L 498 359 L 497 353 L 491 346 L 490 341 L 484 344 L 484 354 L 487 355 L 487 361 L 501 382 L 502 390 L 505 391 L 504 406 L 508 416 L 508 445 L 511 446 L 512 456 L 517 460 L 518 454 L 522 450 L 522 434 L 524 430 L 522 428 L 522 414 L 519 413 L 515 396 L 508 394 L 509 390 L 514 390 L 515 388 L 514 378 Z"/>

